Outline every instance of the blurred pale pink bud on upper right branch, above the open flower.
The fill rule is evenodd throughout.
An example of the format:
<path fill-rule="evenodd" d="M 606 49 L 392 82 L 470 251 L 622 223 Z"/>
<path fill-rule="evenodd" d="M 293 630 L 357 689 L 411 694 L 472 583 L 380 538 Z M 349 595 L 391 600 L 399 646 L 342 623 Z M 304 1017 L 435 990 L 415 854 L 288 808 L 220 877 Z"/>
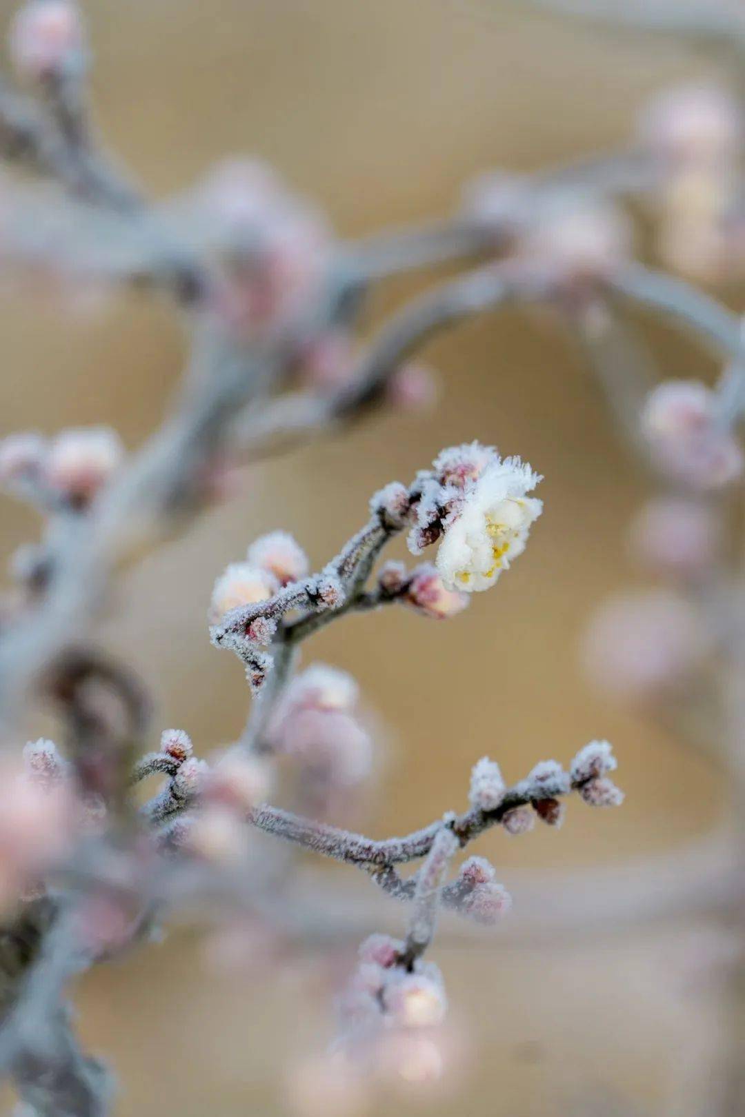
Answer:
<path fill-rule="evenodd" d="M 525 237 L 522 252 L 563 278 L 588 280 L 617 270 L 631 250 L 629 225 L 609 207 L 550 212 Z"/>

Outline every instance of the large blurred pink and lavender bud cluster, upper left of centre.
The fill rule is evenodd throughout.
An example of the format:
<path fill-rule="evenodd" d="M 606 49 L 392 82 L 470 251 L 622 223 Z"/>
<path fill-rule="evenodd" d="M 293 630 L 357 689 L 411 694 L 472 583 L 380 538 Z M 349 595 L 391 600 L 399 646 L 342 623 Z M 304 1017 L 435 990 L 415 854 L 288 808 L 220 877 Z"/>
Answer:
<path fill-rule="evenodd" d="M 192 194 L 188 217 L 226 264 L 218 312 L 233 328 L 296 317 L 321 294 L 331 261 L 327 225 L 265 163 L 222 163 Z"/>

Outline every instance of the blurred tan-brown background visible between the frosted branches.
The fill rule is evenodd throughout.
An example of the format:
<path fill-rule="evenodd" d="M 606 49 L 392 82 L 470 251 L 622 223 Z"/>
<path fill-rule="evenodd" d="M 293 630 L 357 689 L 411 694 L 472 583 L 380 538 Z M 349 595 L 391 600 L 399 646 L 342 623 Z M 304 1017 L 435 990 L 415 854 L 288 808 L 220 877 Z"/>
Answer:
<path fill-rule="evenodd" d="M 87 9 L 101 126 L 155 195 L 225 155 L 254 153 L 343 237 L 451 212 L 461 184 L 489 168 L 531 171 L 611 149 L 653 90 L 711 69 L 672 41 L 496 0 L 96 0 Z M 10 11 L 2 0 L 3 19 Z M 385 284 L 373 324 L 421 281 Z M 724 297 L 738 306 L 737 292 Z M 169 306 L 134 295 L 82 300 L 71 315 L 54 299 L 9 295 L 0 335 L 0 433 L 108 422 L 135 446 L 184 356 Z M 657 326 L 649 336 L 667 374 L 710 375 L 691 345 Z M 207 753 L 239 733 L 249 701 L 240 665 L 207 632 L 227 562 L 284 527 L 322 564 L 363 523 L 372 491 L 409 480 L 445 445 L 478 438 L 522 455 L 545 475 L 545 513 L 493 593 L 447 629 L 389 611 L 340 623 L 306 652 L 306 662 L 353 672 L 384 727 L 365 820 L 376 837 L 462 808 L 484 753 L 513 781 L 538 760 L 569 762 L 592 737 L 613 742 L 621 810 L 571 803 L 560 833 L 481 840 L 476 851 L 519 910 L 523 881 L 536 873 L 611 866 L 632 877 L 647 858 L 705 836 L 720 786 L 696 752 L 582 677 L 588 619 L 636 576 L 625 532 L 644 485 L 561 322 L 509 309 L 426 356 L 441 388 L 431 413 L 378 416 L 254 468 L 239 497 L 127 575 L 102 637 L 152 686 L 157 729 L 182 726 Z M 7 554 L 36 537 L 30 514 L 10 503 L 2 523 Z M 455 1096 L 412 1099 L 412 1111 L 703 1111 L 723 1027 L 716 984 L 697 962 L 707 934 L 681 920 L 641 929 L 620 920 L 553 943 L 508 932 L 464 942 L 446 928 L 432 956 L 453 1014 L 468 1021 L 470 1060 Z M 312 967 L 298 962 L 266 982 L 220 976 L 188 935 L 97 968 L 77 1001 L 86 1043 L 117 1068 L 122 1117 L 284 1115 L 284 1068 L 333 1029 Z M 408 1108 L 399 1098 L 374 1111 Z"/>

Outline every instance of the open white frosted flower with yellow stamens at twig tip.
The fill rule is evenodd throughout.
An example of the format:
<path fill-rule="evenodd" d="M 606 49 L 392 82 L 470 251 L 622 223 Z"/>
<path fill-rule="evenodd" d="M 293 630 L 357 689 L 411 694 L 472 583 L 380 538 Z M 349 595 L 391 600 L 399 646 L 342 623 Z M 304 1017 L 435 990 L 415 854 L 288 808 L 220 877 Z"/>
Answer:
<path fill-rule="evenodd" d="M 526 496 L 542 478 L 519 458 L 498 457 L 468 484 L 445 523 L 437 569 L 446 586 L 488 590 L 525 550 L 543 503 Z"/>

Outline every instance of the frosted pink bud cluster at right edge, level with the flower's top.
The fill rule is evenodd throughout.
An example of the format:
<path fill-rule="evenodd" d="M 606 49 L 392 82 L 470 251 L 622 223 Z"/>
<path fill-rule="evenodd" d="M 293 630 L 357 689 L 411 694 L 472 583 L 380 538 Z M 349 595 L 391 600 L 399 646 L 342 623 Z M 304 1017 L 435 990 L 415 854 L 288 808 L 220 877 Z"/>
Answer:
<path fill-rule="evenodd" d="M 719 489 L 743 474 L 745 459 L 718 400 L 695 380 L 667 380 L 647 398 L 642 431 L 658 467 L 694 490 Z"/>

